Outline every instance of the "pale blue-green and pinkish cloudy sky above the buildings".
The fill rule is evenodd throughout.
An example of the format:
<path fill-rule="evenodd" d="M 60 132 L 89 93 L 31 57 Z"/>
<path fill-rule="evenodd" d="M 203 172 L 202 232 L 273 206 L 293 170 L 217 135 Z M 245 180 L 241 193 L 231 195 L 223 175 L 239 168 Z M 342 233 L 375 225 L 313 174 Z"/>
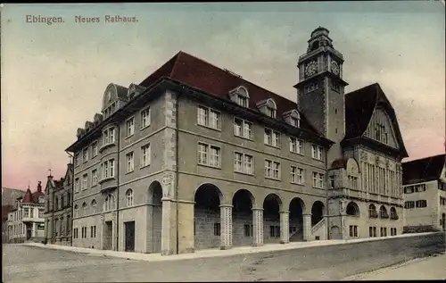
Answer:
<path fill-rule="evenodd" d="M 2 187 L 31 190 L 100 112 L 109 83 L 140 83 L 178 51 L 296 101 L 297 59 L 330 30 L 346 92 L 378 82 L 413 160 L 444 153 L 445 23 L 439 1 L 2 4 Z M 62 23 L 26 22 L 26 16 Z M 106 15 L 137 22 L 104 22 Z M 75 17 L 99 17 L 77 23 Z"/>

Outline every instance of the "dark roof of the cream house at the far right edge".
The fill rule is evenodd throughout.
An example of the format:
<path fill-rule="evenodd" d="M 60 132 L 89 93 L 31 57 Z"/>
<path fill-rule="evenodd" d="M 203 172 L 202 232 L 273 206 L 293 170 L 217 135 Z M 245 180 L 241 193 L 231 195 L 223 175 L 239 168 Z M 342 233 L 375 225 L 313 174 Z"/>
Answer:
<path fill-rule="evenodd" d="M 402 184 L 415 184 L 440 179 L 445 164 L 445 154 L 402 163 Z"/>

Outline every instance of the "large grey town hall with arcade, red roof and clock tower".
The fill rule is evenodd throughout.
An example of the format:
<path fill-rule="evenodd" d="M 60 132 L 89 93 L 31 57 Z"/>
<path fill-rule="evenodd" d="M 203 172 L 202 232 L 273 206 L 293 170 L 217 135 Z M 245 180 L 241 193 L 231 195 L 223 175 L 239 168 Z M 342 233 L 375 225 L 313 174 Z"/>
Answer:
<path fill-rule="evenodd" d="M 298 104 L 184 52 L 106 87 L 67 148 L 73 246 L 176 254 L 401 234 L 408 154 L 383 90 L 344 96 L 324 28 L 298 69 Z"/>

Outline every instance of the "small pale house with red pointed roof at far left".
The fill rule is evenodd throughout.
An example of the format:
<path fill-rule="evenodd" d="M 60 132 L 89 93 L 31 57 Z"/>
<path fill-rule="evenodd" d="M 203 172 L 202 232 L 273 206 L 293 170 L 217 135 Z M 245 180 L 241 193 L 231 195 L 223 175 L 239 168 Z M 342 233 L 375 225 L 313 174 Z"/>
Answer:
<path fill-rule="evenodd" d="M 14 210 L 9 212 L 7 221 L 9 243 L 44 239 L 44 206 L 45 194 L 39 181 L 37 192 L 31 193 L 28 188 L 25 195 L 17 199 Z"/>

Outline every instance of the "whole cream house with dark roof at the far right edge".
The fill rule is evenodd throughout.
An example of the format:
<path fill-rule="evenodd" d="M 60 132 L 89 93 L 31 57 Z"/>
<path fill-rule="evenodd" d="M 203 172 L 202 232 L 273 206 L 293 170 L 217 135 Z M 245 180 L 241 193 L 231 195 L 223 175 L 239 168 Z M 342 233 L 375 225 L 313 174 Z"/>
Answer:
<path fill-rule="evenodd" d="M 406 231 L 446 229 L 445 154 L 402 163 Z"/>

